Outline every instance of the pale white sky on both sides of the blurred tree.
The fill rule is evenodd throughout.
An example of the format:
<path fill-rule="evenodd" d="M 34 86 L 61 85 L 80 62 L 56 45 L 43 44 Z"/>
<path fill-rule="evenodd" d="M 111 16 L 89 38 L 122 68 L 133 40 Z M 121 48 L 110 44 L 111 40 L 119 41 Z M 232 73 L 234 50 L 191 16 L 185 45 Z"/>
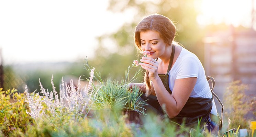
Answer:
<path fill-rule="evenodd" d="M 202 1 L 195 3 L 201 25 L 251 25 L 252 0 Z M 112 13 L 107 7 L 108 0 L 0 0 L 3 64 L 92 57 L 97 36 L 115 32 L 133 18 L 132 11 Z"/>

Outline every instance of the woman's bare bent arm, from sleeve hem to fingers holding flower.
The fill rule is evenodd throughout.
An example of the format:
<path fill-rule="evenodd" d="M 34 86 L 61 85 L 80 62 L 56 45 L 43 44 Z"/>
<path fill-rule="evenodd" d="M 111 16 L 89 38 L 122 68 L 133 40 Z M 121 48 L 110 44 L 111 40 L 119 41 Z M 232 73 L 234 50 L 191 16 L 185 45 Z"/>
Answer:
<path fill-rule="evenodd" d="M 141 67 L 149 72 L 148 76 L 151 78 L 159 104 L 170 118 L 177 116 L 188 101 L 196 85 L 197 77 L 176 79 L 174 88 L 172 89 L 172 95 L 170 95 L 158 76 L 158 62 L 147 57 L 142 57 L 141 62 L 143 62 L 139 63 Z"/>

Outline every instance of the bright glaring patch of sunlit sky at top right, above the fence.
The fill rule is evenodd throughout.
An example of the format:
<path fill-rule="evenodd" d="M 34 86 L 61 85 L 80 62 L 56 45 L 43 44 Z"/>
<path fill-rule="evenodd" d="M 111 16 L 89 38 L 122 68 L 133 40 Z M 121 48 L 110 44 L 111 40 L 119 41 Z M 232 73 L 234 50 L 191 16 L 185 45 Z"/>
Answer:
<path fill-rule="evenodd" d="M 203 0 L 200 11 L 197 18 L 200 25 L 224 22 L 250 27 L 252 0 Z"/>

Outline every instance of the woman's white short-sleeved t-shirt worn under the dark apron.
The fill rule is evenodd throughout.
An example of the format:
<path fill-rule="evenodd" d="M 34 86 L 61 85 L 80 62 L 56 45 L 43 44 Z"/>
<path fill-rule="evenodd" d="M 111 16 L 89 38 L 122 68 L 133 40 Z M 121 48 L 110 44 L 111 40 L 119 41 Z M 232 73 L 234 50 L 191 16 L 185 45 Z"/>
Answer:
<path fill-rule="evenodd" d="M 179 46 L 181 47 L 181 46 Z M 172 66 L 169 74 L 169 87 L 172 91 L 174 88 L 175 79 L 197 77 L 196 85 L 191 92 L 190 97 L 193 98 L 212 98 L 211 89 L 205 76 L 205 71 L 202 63 L 197 56 L 187 49 L 181 47 L 182 50 L 178 59 Z M 214 100 L 212 101 L 211 113 L 217 115 L 217 110 Z"/>

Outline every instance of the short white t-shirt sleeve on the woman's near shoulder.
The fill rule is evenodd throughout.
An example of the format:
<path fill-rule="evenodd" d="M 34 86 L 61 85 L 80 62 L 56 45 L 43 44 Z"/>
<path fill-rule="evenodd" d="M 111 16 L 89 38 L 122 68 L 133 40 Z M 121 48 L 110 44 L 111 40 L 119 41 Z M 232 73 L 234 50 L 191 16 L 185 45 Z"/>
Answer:
<path fill-rule="evenodd" d="M 176 79 L 197 77 L 199 74 L 199 64 L 196 58 L 187 57 L 182 60 Z"/>

